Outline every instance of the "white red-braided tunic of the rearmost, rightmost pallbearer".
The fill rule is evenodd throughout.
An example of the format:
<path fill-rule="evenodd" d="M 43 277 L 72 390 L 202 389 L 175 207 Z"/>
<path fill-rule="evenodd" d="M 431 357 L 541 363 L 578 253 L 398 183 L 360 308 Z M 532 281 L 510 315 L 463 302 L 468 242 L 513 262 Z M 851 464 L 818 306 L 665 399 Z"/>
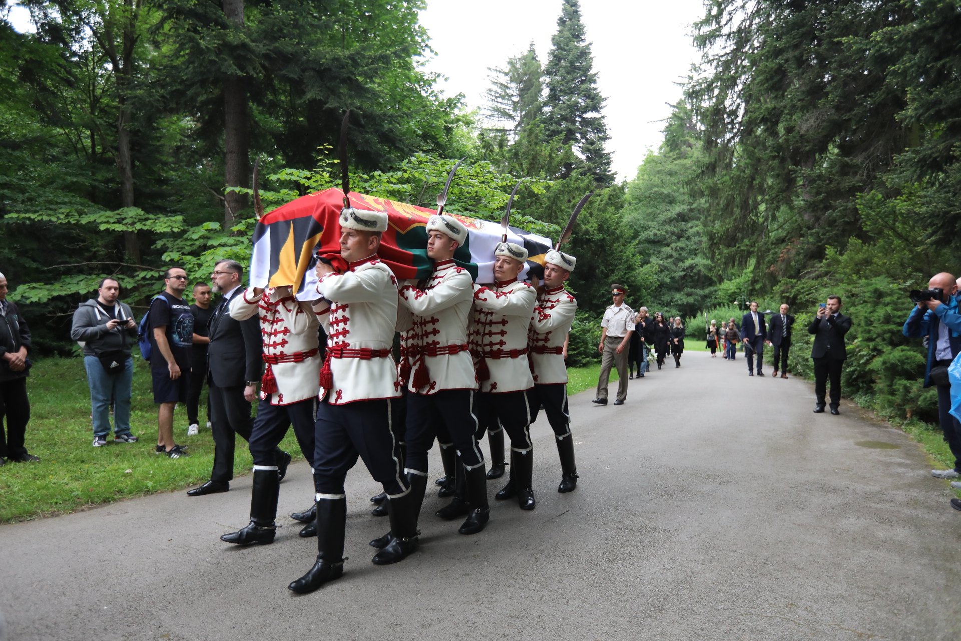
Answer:
<path fill-rule="evenodd" d="M 574 323 L 578 301 L 558 285 L 541 292 L 530 319 L 528 349 L 534 364 L 534 384 L 545 385 L 567 382 L 564 364 L 564 340 Z"/>

